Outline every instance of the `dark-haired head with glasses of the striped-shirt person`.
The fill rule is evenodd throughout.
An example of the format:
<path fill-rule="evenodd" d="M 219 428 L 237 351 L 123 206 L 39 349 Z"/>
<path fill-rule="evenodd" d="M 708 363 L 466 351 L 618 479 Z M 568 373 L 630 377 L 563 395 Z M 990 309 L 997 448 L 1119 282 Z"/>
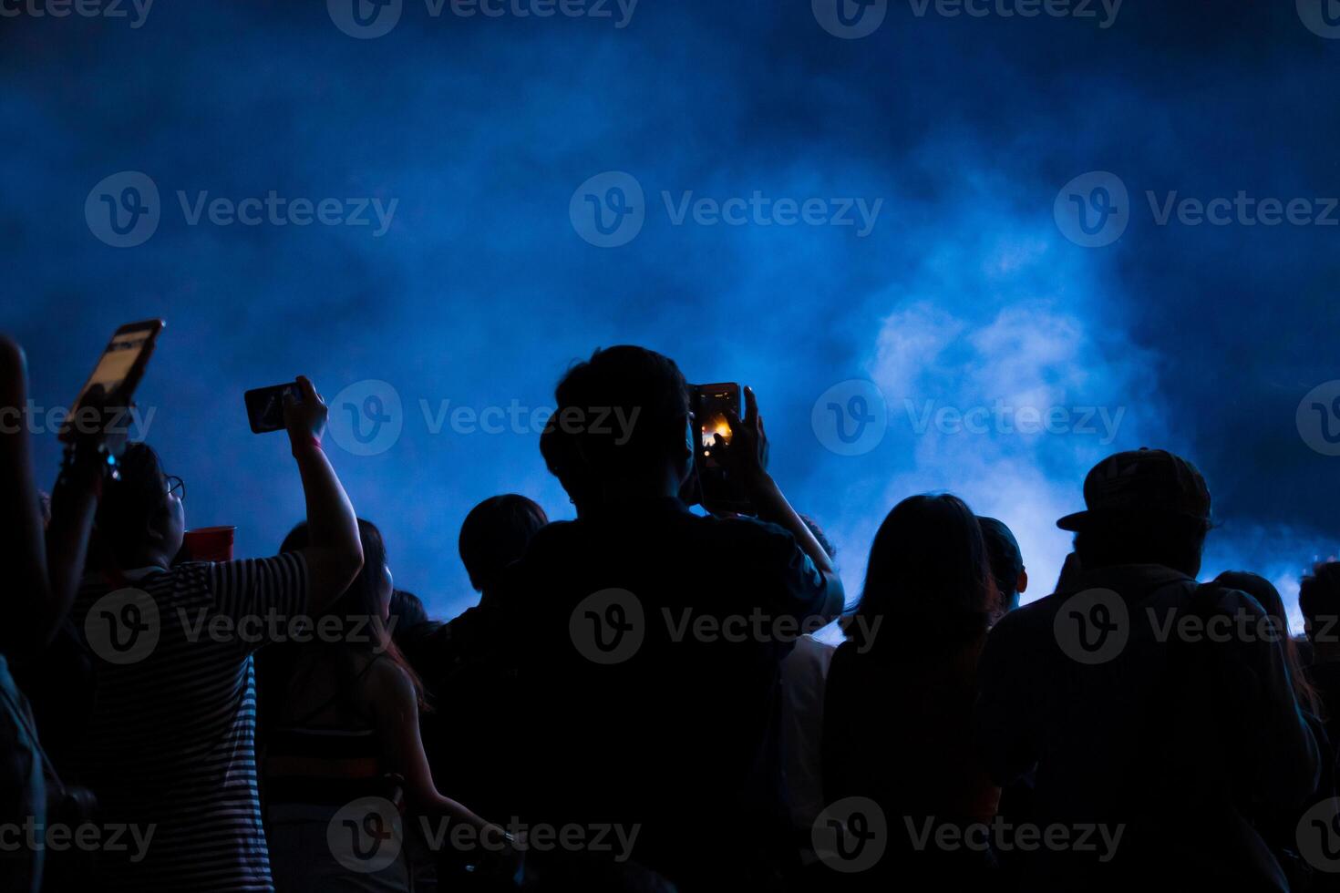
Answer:
<path fill-rule="evenodd" d="M 127 444 L 119 467 L 98 503 L 95 560 L 123 570 L 172 566 L 186 532 L 180 479 L 163 474 L 147 443 Z"/>

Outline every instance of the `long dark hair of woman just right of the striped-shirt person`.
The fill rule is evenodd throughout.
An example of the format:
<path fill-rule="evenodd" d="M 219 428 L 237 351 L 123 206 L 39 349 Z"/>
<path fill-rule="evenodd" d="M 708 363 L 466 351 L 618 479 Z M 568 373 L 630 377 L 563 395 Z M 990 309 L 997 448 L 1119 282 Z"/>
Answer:
<path fill-rule="evenodd" d="M 386 542 L 382 540 L 382 532 L 371 521 L 359 518 L 358 536 L 363 544 L 363 569 L 359 570 L 348 589 L 327 605 L 319 616 L 312 617 L 315 624 L 322 624 L 323 619 L 338 617 L 344 621 L 340 625 L 342 632 L 348 635 L 336 636 L 334 640 L 314 635 L 310 643 L 285 641 L 263 649 L 261 685 L 269 687 L 272 691 L 284 691 L 295 679 L 296 659 L 300 653 L 297 649 L 304 645 L 315 645 L 328 649 L 339 673 L 339 681 L 344 685 L 351 684 L 354 677 L 367 665 L 363 659 L 367 656 L 371 656 L 373 660 L 377 660 L 378 656 L 386 657 L 409 676 L 414 684 L 419 708 L 427 710 L 423 702 L 423 683 L 397 647 L 395 640 L 391 639 L 386 621 L 382 619 L 382 604 L 378 593 L 382 566 L 386 564 Z M 281 553 L 297 552 L 307 548 L 310 542 L 311 532 L 304 521 L 284 537 L 284 544 L 279 550 Z M 269 703 L 276 706 L 281 703 L 273 695 L 271 698 Z"/>

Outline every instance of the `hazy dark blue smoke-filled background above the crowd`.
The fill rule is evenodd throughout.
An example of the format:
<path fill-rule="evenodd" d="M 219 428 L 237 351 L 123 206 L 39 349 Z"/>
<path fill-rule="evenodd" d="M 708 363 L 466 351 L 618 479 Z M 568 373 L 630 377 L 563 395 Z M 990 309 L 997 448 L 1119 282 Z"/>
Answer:
<path fill-rule="evenodd" d="M 27 1 L 27 0 L 25 0 Z M 1305 0 L 1306 1 L 1306 0 Z M 1101 8 L 1100 17 L 1103 16 Z M 758 394 L 773 469 L 840 548 L 852 592 L 898 499 L 950 489 L 1020 534 L 1041 594 L 1103 454 L 1147 443 L 1206 473 L 1222 527 L 1206 570 L 1284 589 L 1333 550 L 1340 459 L 1311 450 L 1298 402 L 1336 378 L 1336 226 L 1159 226 L 1162 201 L 1340 194 L 1340 42 L 1293 3 L 1127 0 L 1095 19 L 918 16 L 888 4 L 844 40 L 808 0 L 642 0 L 614 19 L 427 13 L 342 33 L 322 3 L 154 4 L 129 19 L 0 19 L 8 133 L 0 321 L 34 399 L 67 403 L 119 323 L 162 316 L 139 403 L 189 483 L 192 525 L 236 523 L 269 553 L 302 517 L 281 436 L 252 436 L 241 391 L 297 372 L 332 396 L 385 380 L 403 434 L 331 453 L 401 585 L 441 613 L 470 593 L 456 534 L 507 490 L 571 514 L 527 434 L 433 435 L 419 411 L 543 407 L 596 345 L 641 343 L 695 380 Z M 162 221 L 111 248 L 84 201 L 147 174 Z M 622 170 L 646 226 L 602 249 L 570 198 Z M 1071 178 L 1118 174 L 1131 222 L 1081 248 L 1053 221 Z M 189 226 L 176 193 L 398 199 L 368 226 Z M 661 198 L 883 199 L 840 226 L 671 224 Z M 1340 214 L 1336 214 L 1340 217 Z M 870 378 L 888 430 L 827 450 L 811 408 Z M 1101 406 L 1093 434 L 919 434 L 906 410 Z M 39 474 L 56 449 L 39 438 Z"/>

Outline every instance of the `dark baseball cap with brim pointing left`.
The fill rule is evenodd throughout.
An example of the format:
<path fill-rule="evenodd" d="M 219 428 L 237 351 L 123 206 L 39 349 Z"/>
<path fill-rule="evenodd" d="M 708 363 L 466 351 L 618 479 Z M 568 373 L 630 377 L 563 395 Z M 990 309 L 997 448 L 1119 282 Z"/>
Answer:
<path fill-rule="evenodd" d="M 1095 518 L 1122 514 L 1175 514 L 1210 521 L 1210 490 L 1194 465 L 1167 450 L 1140 447 L 1099 462 L 1084 478 L 1085 511 L 1056 522 L 1083 530 Z"/>

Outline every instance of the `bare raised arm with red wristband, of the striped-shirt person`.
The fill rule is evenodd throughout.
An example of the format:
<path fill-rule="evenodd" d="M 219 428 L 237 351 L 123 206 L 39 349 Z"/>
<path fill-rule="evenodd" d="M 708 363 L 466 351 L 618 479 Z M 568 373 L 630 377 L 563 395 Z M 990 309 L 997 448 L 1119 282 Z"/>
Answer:
<path fill-rule="evenodd" d="M 315 615 L 330 605 L 363 568 L 363 545 L 358 537 L 358 517 L 322 449 L 326 434 L 326 403 L 312 383 L 297 378 L 302 399 L 284 400 L 284 423 L 293 446 L 297 471 L 307 497 L 307 525 L 311 545 L 302 550 L 307 562 L 308 609 Z"/>

